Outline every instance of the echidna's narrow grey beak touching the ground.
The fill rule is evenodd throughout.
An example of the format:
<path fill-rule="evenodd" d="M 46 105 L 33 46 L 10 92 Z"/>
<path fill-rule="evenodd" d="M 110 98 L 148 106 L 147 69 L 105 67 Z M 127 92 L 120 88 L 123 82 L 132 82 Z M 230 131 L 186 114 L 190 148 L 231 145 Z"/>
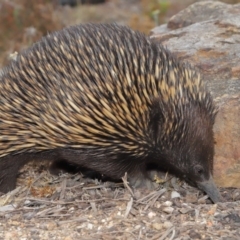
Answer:
<path fill-rule="evenodd" d="M 198 187 L 207 193 L 207 195 L 211 198 L 214 203 L 221 202 L 222 196 L 218 191 L 217 186 L 215 185 L 212 176 L 210 176 L 209 180 L 204 182 L 198 182 Z"/>

